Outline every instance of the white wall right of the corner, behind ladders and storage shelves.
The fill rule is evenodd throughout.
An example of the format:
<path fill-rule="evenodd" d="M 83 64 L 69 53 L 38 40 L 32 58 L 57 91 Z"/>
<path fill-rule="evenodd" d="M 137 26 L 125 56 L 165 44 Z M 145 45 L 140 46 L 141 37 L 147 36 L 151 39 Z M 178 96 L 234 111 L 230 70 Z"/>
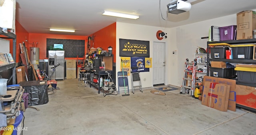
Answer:
<path fill-rule="evenodd" d="M 190 62 L 194 60 L 197 46 L 204 49 L 207 48 L 208 38 L 201 39 L 201 37 L 207 37 L 209 35 L 209 28 L 211 26 L 224 27 L 230 25 L 236 25 L 236 14 L 171 28 L 171 34 L 174 36 L 171 36 L 169 40 L 175 41 L 173 44 L 176 46 L 178 54 L 176 61 L 169 67 L 171 69 L 176 68 L 178 71 L 171 71 L 174 77 L 168 79 L 168 84 L 176 86 L 182 85 L 186 58 L 188 58 Z M 172 58 L 172 55 L 168 55 L 167 59 L 170 58 Z"/>

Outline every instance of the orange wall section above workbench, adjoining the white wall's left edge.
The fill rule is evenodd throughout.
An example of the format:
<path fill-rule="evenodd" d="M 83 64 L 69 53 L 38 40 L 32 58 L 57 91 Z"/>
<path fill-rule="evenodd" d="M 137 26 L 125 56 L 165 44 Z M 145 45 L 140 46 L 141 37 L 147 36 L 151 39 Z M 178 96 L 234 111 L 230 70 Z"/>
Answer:
<path fill-rule="evenodd" d="M 108 50 L 108 47 L 111 46 L 113 48 L 112 54 L 114 54 L 114 62 L 116 62 L 116 22 L 91 34 L 90 36 L 94 36 L 94 48 Z M 92 44 L 93 41 L 91 40 L 91 48 Z"/>

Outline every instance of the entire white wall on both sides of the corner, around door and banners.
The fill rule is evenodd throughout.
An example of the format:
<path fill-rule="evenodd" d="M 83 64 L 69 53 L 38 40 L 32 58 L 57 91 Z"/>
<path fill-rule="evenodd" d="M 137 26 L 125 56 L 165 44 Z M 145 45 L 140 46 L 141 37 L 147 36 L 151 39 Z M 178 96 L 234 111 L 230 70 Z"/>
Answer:
<path fill-rule="evenodd" d="M 116 23 L 116 68 L 120 67 L 119 56 L 119 38 L 132 40 L 147 40 L 150 41 L 150 57 L 152 57 L 153 42 L 166 42 L 166 85 L 182 85 L 184 76 L 184 63 L 186 58 L 189 61 L 194 60 L 196 48 L 202 47 L 206 49 L 208 39 L 201 39 L 209 35 L 211 26 L 230 26 L 236 25 L 236 14 L 214 18 L 202 22 L 179 26 L 175 28 L 159 28 L 152 26 L 143 26 L 126 23 Z M 156 32 L 162 30 L 167 32 L 168 38 L 157 40 Z M 172 54 L 172 51 L 177 51 L 177 54 Z M 152 69 L 150 72 L 142 72 L 142 87 L 152 87 Z M 117 80 L 117 79 L 116 79 Z M 131 81 L 129 80 L 129 87 Z"/>

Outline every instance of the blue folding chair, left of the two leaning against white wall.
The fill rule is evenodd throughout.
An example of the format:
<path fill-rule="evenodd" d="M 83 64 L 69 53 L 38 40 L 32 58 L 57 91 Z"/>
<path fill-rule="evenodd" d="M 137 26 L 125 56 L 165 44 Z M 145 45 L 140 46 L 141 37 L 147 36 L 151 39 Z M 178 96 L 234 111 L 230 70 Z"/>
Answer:
<path fill-rule="evenodd" d="M 127 71 L 124 71 L 124 75 L 122 71 L 117 72 L 118 76 L 118 94 L 120 89 L 126 89 L 129 93 L 129 83 L 128 83 L 128 77 L 127 77 Z M 125 85 L 124 85 L 125 84 Z"/>

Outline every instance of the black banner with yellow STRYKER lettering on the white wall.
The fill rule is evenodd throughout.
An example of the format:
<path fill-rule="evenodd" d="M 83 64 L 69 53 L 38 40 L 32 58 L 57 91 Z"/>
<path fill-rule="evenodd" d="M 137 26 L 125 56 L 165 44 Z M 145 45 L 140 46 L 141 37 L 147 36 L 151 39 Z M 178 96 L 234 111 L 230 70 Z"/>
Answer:
<path fill-rule="evenodd" d="M 119 55 L 149 58 L 149 41 L 119 39 Z"/>

